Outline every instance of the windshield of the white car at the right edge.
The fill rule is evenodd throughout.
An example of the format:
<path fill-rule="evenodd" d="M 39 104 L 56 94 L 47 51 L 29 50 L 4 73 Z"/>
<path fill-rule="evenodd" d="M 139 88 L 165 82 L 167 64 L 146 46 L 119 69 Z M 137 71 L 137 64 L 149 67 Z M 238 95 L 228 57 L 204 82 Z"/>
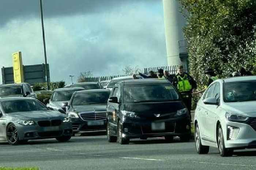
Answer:
<path fill-rule="evenodd" d="M 226 82 L 224 89 L 225 102 L 256 101 L 256 81 Z"/>

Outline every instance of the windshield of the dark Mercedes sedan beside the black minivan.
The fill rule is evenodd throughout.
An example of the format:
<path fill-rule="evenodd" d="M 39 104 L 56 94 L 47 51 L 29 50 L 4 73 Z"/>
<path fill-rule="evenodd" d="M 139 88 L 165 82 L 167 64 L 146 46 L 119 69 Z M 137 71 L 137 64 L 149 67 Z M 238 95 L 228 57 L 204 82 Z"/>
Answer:
<path fill-rule="evenodd" d="M 107 103 L 110 91 L 104 92 L 83 92 L 75 94 L 72 105 L 92 105 Z"/>

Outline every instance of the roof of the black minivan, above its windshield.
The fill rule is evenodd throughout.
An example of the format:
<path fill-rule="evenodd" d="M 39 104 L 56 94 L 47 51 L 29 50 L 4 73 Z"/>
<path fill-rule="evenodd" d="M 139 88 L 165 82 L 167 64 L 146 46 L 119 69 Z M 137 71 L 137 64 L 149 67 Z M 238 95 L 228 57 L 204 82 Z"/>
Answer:
<path fill-rule="evenodd" d="M 121 83 L 124 83 L 125 85 L 127 85 L 127 84 L 170 83 L 170 82 L 169 80 L 166 80 L 166 79 L 131 79 L 131 80 L 121 81 Z"/>

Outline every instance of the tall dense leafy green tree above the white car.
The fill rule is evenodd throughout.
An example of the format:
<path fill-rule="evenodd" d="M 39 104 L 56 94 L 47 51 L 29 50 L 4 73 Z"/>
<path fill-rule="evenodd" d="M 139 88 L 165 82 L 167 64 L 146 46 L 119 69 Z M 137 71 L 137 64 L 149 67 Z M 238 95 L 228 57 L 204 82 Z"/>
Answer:
<path fill-rule="evenodd" d="M 201 85 L 204 69 L 219 77 L 255 63 L 255 0 L 180 0 L 187 18 L 190 73 Z"/>

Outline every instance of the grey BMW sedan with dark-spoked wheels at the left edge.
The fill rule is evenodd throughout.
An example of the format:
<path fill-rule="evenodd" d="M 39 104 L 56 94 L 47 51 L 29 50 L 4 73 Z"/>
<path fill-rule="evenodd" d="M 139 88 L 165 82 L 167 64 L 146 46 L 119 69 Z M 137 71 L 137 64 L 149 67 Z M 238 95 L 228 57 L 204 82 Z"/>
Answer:
<path fill-rule="evenodd" d="M 50 110 L 33 98 L 0 98 L 0 142 L 15 145 L 49 138 L 64 142 L 72 134 L 66 114 Z"/>

